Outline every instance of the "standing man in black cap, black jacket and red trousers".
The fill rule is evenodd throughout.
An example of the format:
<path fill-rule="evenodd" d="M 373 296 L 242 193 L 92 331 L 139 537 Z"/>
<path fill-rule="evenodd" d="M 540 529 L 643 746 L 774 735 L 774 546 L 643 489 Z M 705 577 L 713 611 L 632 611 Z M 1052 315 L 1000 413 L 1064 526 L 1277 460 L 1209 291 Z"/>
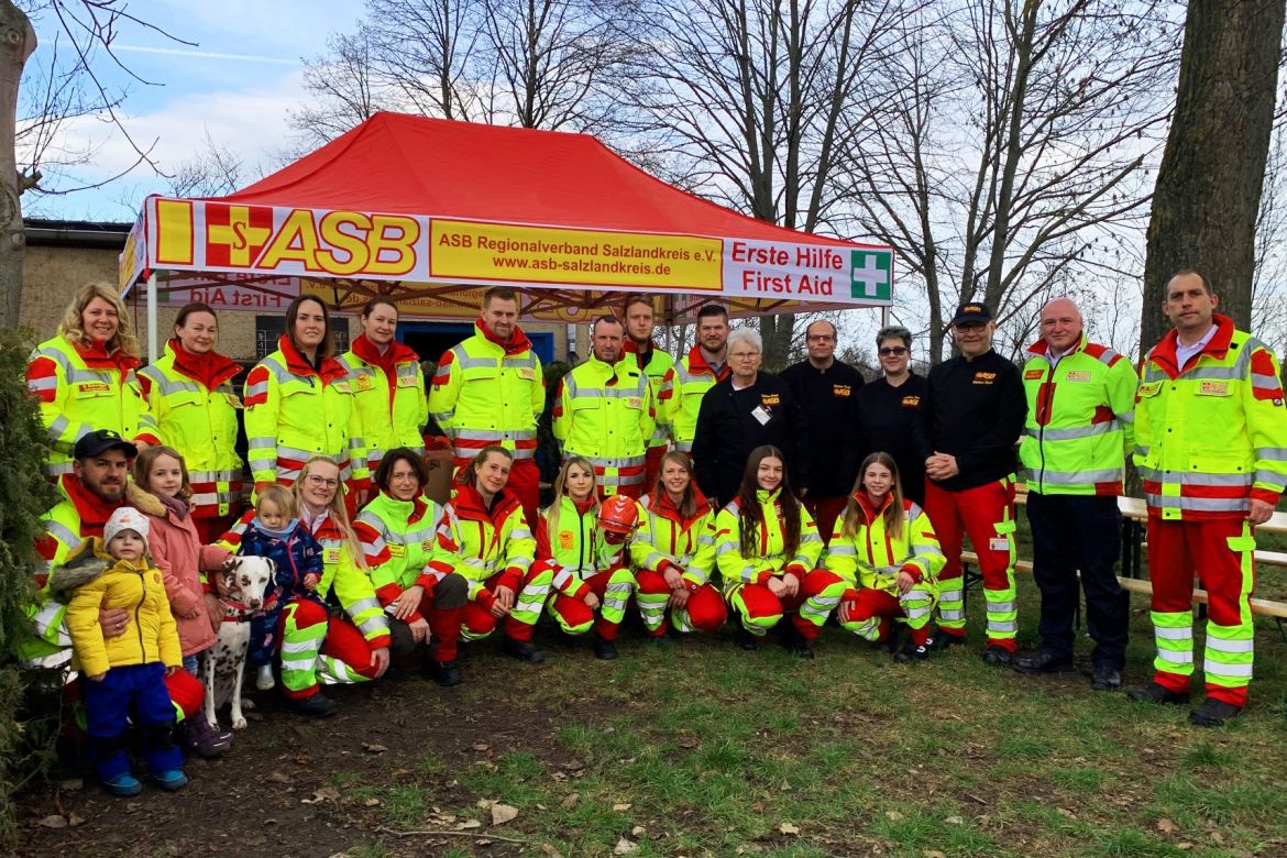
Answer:
<path fill-rule="evenodd" d="M 1018 630 L 1014 592 L 1014 445 L 1027 401 L 1018 368 L 992 351 L 996 323 L 986 304 L 963 304 L 952 316 L 960 354 L 929 370 L 916 412 L 915 444 L 925 462 L 925 512 L 947 563 L 938 574 L 938 632 L 932 646 L 965 642 L 961 540 L 968 534 L 983 574 L 987 650 L 1008 666 Z"/>

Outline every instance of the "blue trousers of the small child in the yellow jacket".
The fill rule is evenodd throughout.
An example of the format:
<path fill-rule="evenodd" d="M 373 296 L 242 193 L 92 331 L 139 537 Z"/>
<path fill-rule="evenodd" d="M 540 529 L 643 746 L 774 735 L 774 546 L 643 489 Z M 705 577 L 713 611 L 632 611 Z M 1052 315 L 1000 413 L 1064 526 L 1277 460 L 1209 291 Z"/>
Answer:
<path fill-rule="evenodd" d="M 143 753 L 153 774 L 183 765 L 174 744 L 174 704 L 165 687 L 165 665 L 131 664 L 112 668 L 100 682 L 85 679 L 85 732 L 89 733 L 99 778 L 111 781 L 130 771 L 125 728 L 133 720 L 143 737 Z"/>

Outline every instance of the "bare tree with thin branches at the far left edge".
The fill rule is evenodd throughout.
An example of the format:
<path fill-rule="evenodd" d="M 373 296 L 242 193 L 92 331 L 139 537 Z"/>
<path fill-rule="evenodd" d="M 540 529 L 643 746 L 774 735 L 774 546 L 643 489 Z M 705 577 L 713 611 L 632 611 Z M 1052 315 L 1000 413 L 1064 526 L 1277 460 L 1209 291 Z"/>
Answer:
<path fill-rule="evenodd" d="M 28 58 L 36 50 L 36 32 L 30 15 L 48 15 L 57 22 L 55 48 L 50 62 L 35 76 L 23 105 L 21 86 Z M 85 162 L 93 153 L 58 149 L 58 129 L 76 116 L 102 116 L 138 156 L 134 166 L 156 170 L 156 141 L 134 139 L 118 112 L 124 93 L 104 84 L 100 68 L 115 66 L 139 84 L 112 50 L 116 35 L 127 27 L 151 30 L 171 41 L 184 42 L 127 10 L 125 0 L 0 0 L 0 328 L 15 327 L 22 307 L 22 261 L 26 234 L 22 202 L 27 192 L 67 193 L 66 187 L 41 185 L 46 166 L 59 170 L 69 161 Z M 64 62 L 66 58 L 66 62 Z M 35 105 L 32 109 L 30 105 Z M 19 123 L 19 109 L 23 121 Z M 18 147 L 23 166 L 18 166 Z M 133 169 L 133 167 L 131 167 Z M 95 183 L 99 185 L 103 183 Z"/>

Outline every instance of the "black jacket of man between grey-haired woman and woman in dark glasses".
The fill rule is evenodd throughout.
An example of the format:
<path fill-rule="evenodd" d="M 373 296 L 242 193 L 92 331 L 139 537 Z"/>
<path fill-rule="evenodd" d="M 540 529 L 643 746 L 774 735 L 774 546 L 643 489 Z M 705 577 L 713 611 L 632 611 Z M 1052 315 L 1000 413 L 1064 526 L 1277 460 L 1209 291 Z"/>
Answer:
<path fill-rule="evenodd" d="M 839 360 L 826 369 L 802 360 L 784 369 L 781 378 L 808 415 L 808 440 L 803 450 L 811 458 L 813 475 L 810 494 L 819 498 L 848 495 L 857 470 L 852 449 L 860 443 L 856 404 L 865 381 L 862 373 Z"/>

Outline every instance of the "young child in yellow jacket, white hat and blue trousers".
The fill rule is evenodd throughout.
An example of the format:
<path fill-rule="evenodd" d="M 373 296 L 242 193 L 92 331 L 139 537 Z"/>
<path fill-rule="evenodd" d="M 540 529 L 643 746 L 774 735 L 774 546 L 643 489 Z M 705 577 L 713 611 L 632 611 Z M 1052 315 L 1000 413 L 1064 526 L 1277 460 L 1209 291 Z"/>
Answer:
<path fill-rule="evenodd" d="M 67 563 L 64 572 L 71 575 L 59 576 L 63 587 L 75 587 L 67 632 L 76 653 L 73 666 L 88 679 L 82 689 L 94 764 L 103 785 L 117 796 L 143 790 L 125 753 L 127 718 L 143 736 L 153 780 L 165 790 L 188 783 L 183 753 L 171 738 L 174 706 L 165 686 L 183 655 L 161 571 L 149 562 L 147 548 L 147 517 L 122 507 L 107 520 L 103 539 L 91 538 Z M 130 612 L 125 634 L 103 638 L 100 608 Z"/>

